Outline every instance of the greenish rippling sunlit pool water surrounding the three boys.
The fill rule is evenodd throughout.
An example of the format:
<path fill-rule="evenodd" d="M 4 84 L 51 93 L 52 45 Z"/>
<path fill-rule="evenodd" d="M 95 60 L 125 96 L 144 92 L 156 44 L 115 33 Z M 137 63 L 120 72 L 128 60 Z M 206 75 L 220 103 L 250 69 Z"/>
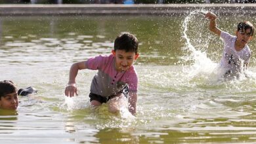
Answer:
<path fill-rule="evenodd" d="M 222 41 L 199 11 L 185 16 L 2 17 L 0 80 L 38 93 L 0 110 L 1 143 L 255 143 L 256 65 L 223 81 Z M 254 16 L 220 16 L 221 29 Z M 110 54 L 119 33 L 140 41 L 137 116 L 89 106 L 96 71 L 79 71 L 79 96 L 66 98 L 70 65 Z M 256 43 L 249 46 L 254 52 Z"/>

